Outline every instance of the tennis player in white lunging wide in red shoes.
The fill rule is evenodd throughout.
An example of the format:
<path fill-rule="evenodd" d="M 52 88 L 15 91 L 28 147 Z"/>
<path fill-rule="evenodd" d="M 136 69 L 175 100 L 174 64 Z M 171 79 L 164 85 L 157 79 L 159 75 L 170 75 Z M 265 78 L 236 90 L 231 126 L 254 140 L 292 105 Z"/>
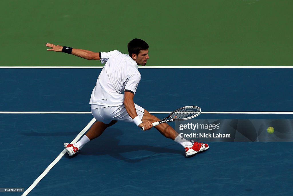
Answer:
<path fill-rule="evenodd" d="M 93 117 L 97 121 L 77 143 L 64 143 L 69 156 L 76 154 L 86 143 L 99 137 L 107 127 L 114 125 L 117 121 L 135 123 L 138 127 L 149 130 L 153 126 L 151 123 L 160 120 L 133 101 L 141 79 L 138 65 L 145 66 L 149 59 L 149 45 L 145 41 L 138 38 L 131 40 L 127 45 L 128 54 L 117 50 L 96 53 L 67 46 L 56 46 L 52 43 L 46 43 L 46 46 L 50 47 L 48 51 L 73 54 L 105 63 L 89 102 Z M 181 138 L 167 123 L 157 125 L 155 128 L 166 138 L 182 145 L 187 157 L 209 148 L 207 144 Z"/>

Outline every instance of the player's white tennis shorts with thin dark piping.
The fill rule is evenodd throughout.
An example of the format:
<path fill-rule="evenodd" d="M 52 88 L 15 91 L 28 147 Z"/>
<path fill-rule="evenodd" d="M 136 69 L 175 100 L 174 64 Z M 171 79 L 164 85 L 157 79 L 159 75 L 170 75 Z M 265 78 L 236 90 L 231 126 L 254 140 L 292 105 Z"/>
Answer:
<path fill-rule="evenodd" d="M 144 108 L 135 104 L 135 109 L 137 115 L 140 119 L 144 115 Z M 93 117 L 95 117 L 98 121 L 103 122 L 105 124 L 109 124 L 112 120 L 120 120 L 124 122 L 133 123 L 132 118 L 128 115 L 125 106 L 106 106 L 106 105 L 95 105 L 91 104 L 91 112 Z"/>

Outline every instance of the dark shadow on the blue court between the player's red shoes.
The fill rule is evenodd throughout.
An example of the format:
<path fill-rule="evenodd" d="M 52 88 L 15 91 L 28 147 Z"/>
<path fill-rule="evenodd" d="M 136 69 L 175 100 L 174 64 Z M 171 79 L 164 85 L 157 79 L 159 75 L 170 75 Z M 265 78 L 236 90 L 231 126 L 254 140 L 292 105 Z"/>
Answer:
<path fill-rule="evenodd" d="M 99 138 L 96 138 L 87 143 L 82 148 L 79 154 L 94 156 L 110 155 L 115 159 L 128 163 L 138 163 L 148 158 L 153 158 L 157 156 L 163 157 L 166 154 L 180 154 L 182 156 L 185 156 L 184 150 L 156 147 L 151 145 L 139 145 L 139 141 L 137 142 L 137 145 L 120 145 L 120 140 L 115 137 L 119 135 L 123 135 L 121 130 L 108 128 Z M 125 136 L 125 140 L 127 140 L 127 136 Z M 142 155 L 142 153 L 140 152 L 138 156 L 137 152 L 140 150 L 149 151 L 150 153 L 146 152 L 145 155 Z M 128 158 L 121 155 L 121 153 L 127 153 Z"/>

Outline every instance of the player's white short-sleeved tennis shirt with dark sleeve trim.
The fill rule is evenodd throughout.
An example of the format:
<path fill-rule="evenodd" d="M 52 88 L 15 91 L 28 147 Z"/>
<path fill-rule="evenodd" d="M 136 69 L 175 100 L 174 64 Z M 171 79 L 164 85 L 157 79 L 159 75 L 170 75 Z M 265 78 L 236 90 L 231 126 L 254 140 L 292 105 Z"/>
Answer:
<path fill-rule="evenodd" d="M 91 94 L 90 104 L 122 105 L 124 91 L 135 94 L 141 79 L 137 63 L 128 54 L 117 50 L 99 54 L 105 65 Z"/>

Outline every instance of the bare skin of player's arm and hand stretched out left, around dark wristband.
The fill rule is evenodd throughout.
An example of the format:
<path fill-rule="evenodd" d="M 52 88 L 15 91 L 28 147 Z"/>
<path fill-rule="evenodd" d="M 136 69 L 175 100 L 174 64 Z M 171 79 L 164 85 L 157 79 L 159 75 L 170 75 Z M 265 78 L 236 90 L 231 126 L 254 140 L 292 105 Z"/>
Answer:
<path fill-rule="evenodd" d="M 47 49 L 48 51 L 62 52 L 63 50 L 63 46 L 56 46 L 52 43 L 46 43 L 46 46 L 50 47 L 50 49 Z M 99 53 L 89 50 L 72 48 L 71 54 L 88 60 L 100 60 Z"/>

